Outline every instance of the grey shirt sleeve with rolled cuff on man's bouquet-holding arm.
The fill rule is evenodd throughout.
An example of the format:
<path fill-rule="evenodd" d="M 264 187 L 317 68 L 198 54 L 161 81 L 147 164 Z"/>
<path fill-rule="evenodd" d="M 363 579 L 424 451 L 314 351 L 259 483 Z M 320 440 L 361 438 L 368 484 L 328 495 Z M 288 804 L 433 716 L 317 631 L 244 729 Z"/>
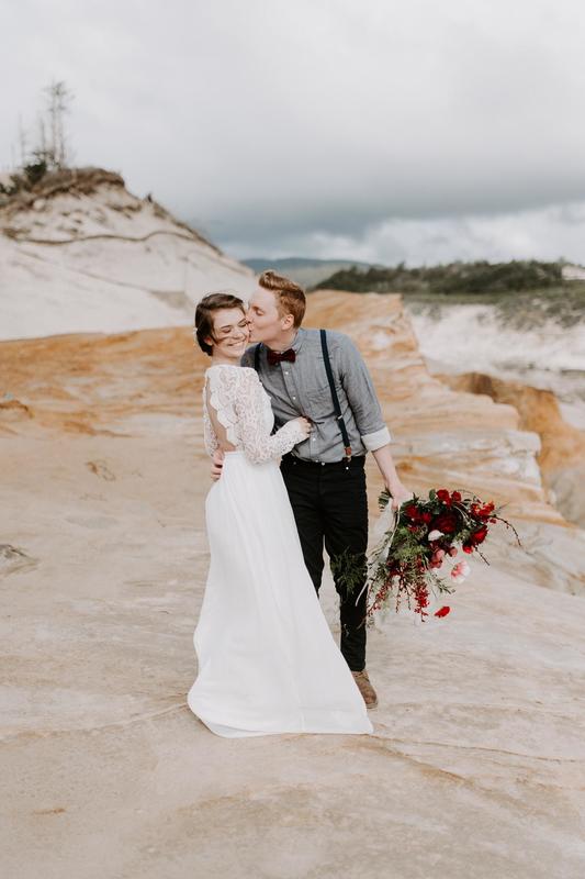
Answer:
<path fill-rule="evenodd" d="M 361 354 L 346 335 L 338 335 L 339 374 L 361 441 L 368 452 L 375 452 L 392 442 L 382 416 L 372 377 Z"/>

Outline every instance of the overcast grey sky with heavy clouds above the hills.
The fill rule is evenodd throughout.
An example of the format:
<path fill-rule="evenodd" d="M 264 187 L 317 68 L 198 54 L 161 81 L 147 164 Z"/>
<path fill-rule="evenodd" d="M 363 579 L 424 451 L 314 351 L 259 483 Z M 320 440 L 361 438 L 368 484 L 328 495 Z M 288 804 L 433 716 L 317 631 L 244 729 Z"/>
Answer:
<path fill-rule="evenodd" d="M 0 167 L 79 165 L 235 256 L 585 263 L 583 0 L 0 0 Z"/>

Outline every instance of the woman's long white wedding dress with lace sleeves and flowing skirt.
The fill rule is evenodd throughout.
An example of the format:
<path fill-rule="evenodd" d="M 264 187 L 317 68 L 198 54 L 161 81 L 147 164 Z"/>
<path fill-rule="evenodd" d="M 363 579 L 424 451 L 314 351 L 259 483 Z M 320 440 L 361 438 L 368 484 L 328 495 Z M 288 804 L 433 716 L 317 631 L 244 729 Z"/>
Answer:
<path fill-rule="evenodd" d="M 235 450 L 205 502 L 211 565 L 190 709 L 226 737 L 371 733 L 305 568 L 280 472 L 280 456 L 304 438 L 299 424 L 271 435 L 256 371 L 229 365 L 205 372 L 203 423 L 210 455 L 226 442 Z"/>

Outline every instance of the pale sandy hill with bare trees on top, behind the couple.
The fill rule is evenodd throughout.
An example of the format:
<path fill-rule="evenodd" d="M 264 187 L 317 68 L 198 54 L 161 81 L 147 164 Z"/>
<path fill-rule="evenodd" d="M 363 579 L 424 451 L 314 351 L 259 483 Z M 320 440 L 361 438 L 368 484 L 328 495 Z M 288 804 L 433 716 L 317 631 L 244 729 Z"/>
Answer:
<path fill-rule="evenodd" d="M 250 269 L 99 168 L 49 175 L 0 205 L 0 338 L 169 326 Z"/>

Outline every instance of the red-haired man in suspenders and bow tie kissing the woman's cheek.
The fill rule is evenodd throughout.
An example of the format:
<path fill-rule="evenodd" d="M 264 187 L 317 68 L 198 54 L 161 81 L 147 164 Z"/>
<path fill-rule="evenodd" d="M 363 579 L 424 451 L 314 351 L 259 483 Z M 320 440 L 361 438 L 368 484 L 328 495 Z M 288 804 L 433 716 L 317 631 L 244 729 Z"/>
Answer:
<path fill-rule="evenodd" d="M 271 398 L 277 427 L 299 415 L 313 422 L 311 437 L 284 455 L 281 471 L 317 593 L 324 546 L 331 559 L 349 555 L 362 570 L 361 582 L 351 592 L 339 571 L 334 571 L 334 579 L 340 600 L 341 653 L 371 709 L 378 698 L 365 670 L 365 592 L 356 605 L 365 581 L 365 454 L 373 454 L 394 505 L 410 492 L 396 474 L 390 433 L 361 355 L 348 336 L 331 331 L 326 333 L 324 349 L 319 331 L 301 326 L 305 305 L 301 287 L 265 271 L 248 311 L 250 341 L 256 344 L 248 348 L 241 365 L 258 371 Z M 221 453 L 216 453 L 212 475 L 221 475 Z"/>

